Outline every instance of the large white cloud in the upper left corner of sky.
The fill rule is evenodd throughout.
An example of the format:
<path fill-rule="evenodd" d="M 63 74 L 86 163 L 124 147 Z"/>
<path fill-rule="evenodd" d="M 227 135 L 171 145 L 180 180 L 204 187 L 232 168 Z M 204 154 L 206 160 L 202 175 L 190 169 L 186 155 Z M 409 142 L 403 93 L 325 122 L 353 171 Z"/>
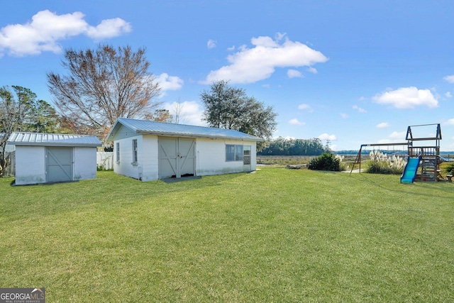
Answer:
<path fill-rule="evenodd" d="M 98 26 L 90 26 L 84 16 L 79 11 L 57 15 L 45 10 L 36 13 L 31 22 L 0 28 L 0 55 L 5 50 L 16 56 L 38 55 L 46 51 L 60 53 L 59 40 L 76 35 L 100 40 L 131 31 L 131 25 L 121 18 L 106 19 Z"/>

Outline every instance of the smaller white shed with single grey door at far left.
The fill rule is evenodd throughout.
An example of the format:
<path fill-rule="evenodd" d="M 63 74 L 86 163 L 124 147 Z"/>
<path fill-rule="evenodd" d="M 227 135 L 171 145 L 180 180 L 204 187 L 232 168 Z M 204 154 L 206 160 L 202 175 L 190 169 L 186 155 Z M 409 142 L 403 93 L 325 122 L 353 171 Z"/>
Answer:
<path fill-rule="evenodd" d="M 96 178 L 96 136 L 12 133 L 16 145 L 16 185 Z"/>

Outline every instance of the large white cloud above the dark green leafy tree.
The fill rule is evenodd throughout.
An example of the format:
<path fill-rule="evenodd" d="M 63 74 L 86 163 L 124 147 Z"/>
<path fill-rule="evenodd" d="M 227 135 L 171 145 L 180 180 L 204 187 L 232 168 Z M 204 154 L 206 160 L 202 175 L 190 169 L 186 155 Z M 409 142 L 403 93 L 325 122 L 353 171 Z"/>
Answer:
<path fill-rule="evenodd" d="M 279 36 L 279 40 L 282 37 Z M 212 70 L 204 83 L 217 80 L 227 80 L 232 84 L 253 83 L 271 77 L 278 67 L 310 67 L 328 60 L 321 52 L 303 43 L 286 38 L 279 44 L 279 40 L 266 36 L 252 38 L 253 48 L 243 45 L 237 53 L 228 55 L 229 65 Z"/>

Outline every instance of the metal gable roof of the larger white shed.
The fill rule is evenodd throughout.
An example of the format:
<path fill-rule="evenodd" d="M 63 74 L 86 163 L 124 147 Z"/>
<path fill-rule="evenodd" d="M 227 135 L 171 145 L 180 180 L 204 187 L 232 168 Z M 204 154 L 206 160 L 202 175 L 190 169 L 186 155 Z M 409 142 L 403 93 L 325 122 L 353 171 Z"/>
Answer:
<path fill-rule="evenodd" d="M 193 126 L 175 123 L 163 123 L 148 120 L 118 118 L 107 135 L 107 141 L 114 141 L 121 126 L 128 128 L 131 133 L 153 134 L 157 136 L 178 136 L 197 138 L 221 138 L 240 141 L 263 141 L 262 138 L 233 131 L 232 129 Z M 128 136 L 124 133 L 123 136 Z"/>

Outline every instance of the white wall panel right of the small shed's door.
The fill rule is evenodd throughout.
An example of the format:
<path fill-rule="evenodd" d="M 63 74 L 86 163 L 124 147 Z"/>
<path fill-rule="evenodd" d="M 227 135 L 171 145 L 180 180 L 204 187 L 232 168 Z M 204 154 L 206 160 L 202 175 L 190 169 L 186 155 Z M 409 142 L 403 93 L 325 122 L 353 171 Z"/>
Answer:
<path fill-rule="evenodd" d="M 96 178 L 96 148 L 74 148 L 74 180 Z"/>

